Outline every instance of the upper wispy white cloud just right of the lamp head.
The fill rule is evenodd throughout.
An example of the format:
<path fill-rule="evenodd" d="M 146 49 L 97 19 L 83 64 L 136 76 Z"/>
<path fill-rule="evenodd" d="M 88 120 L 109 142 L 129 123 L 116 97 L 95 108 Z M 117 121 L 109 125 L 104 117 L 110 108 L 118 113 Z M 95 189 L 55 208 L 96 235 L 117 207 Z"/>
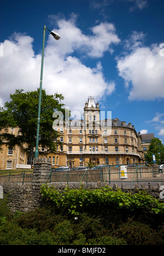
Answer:
<path fill-rule="evenodd" d="M 84 34 L 75 26 L 75 19 L 58 21 L 58 33 L 61 35 L 60 43 L 55 48 L 61 55 L 80 53 L 93 58 L 102 57 L 105 51 L 112 51 L 111 45 L 118 44 L 120 39 L 115 33 L 115 27 L 108 22 L 91 27 L 90 34 Z M 50 46 L 54 45 L 50 36 Z M 53 42 L 53 43 L 52 43 Z"/>

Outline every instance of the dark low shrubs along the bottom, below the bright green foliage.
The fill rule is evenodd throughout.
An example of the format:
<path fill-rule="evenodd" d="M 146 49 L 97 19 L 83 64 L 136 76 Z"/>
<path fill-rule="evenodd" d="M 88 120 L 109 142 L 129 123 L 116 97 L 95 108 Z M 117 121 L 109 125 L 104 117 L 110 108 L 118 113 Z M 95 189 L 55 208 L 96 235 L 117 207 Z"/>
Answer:
<path fill-rule="evenodd" d="M 76 220 L 69 218 L 69 216 L 62 216 L 62 218 L 60 216 L 56 223 L 54 214 L 51 216 L 51 228 L 49 224 L 43 228 L 45 215 L 48 212 L 50 212 L 50 210 L 46 211 L 43 209 L 43 223 L 41 220 L 42 209 L 31 212 L 32 215 L 25 213 L 20 215 L 20 217 L 14 217 L 9 220 L 2 217 L 0 225 L 0 245 L 87 246 L 163 245 L 164 243 L 164 226 L 162 226 L 162 224 L 159 230 L 154 230 L 151 229 L 149 225 L 130 219 L 125 223 L 121 223 L 117 226 L 114 225 L 112 229 L 108 229 L 99 216 L 89 216 L 87 213 L 80 213 Z M 37 228 L 38 213 L 38 225 L 42 226 L 42 229 Z M 32 225 L 29 224 L 27 228 L 27 223 L 31 221 L 33 222 Z M 36 228 L 31 228 L 32 226 L 36 226 Z"/>

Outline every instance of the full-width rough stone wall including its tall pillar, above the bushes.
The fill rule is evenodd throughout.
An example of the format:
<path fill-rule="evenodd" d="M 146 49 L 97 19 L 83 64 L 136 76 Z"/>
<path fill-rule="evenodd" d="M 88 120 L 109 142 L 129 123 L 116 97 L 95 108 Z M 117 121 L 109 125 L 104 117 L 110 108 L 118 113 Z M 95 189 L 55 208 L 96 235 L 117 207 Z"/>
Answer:
<path fill-rule="evenodd" d="M 40 194 L 40 186 L 46 182 L 46 178 L 50 173 L 51 164 L 46 158 L 39 158 L 34 164 L 33 169 L 33 179 L 31 183 L 7 183 L 7 182 L 0 182 L 0 186 L 3 188 L 3 197 L 6 195 L 8 196 L 8 205 L 10 207 L 11 212 L 21 211 L 21 212 L 28 212 L 35 210 L 38 207 L 42 207 L 45 204 L 45 201 Z M 103 182 L 90 182 L 90 183 L 82 183 L 84 188 L 87 189 L 96 189 L 103 187 Z M 56 189 L 65 189 L 67 182 L 57 183 L 52 182 L 49 183 L 49 186 L 54 185 Z M 69 187 L 71 188 L 80 188 L 81 183 L 70 183 Z M 155 198 L 164 201 L 160 197 L 161 193 L 161 184 L 159 183 L 156 188 L 153 188 L 151 183 L 149 183 L 148 187 L 145 187 L 144 184 L 138 187 L 138 184 L 132 189 L 127 189 L 125 184 L 122 183 L 121 189 L 122 191 L 130 191 L 132 194 L 138 193 L 140 190 L 146 190 L 148 193 Z M 118 188 L 117 184 L 113 185 L 113 190 Z M 163 188 L 164 189 L 164 188 Z"/>

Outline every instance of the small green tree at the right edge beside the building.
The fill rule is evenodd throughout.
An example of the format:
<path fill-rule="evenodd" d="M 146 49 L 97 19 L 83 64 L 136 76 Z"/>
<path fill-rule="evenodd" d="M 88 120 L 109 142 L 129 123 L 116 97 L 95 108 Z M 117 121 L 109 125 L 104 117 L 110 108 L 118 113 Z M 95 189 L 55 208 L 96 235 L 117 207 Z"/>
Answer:
<path fill-rule="evenodd" d="M 159 138 L 151 139 L 148 153 L 145 155 L 145 160 L 148 162 L 153 162 L 152 154 L 155 155 L 156 162 L 164 161 L 164 145 Z"/>

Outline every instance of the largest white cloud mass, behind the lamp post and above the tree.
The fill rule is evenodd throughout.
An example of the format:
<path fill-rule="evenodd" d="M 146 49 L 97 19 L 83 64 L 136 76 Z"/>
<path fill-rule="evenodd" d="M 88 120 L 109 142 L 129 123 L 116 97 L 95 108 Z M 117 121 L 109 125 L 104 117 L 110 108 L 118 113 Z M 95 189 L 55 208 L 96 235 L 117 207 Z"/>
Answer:
<path fill-rule="evenodd" d="M 102 57 L 111 51 L 112 44 L 120 39 L 113 24 L 101 23 L 90 28 L 91 34 L 84 34 L 75 20 L 58 20 L 59 41 L 49 35 L 45 44 L 43 89 L 48 94 L 56 91 L 65 97 L 64 103 L 71 110 L 83 110 L 87 96 L 100 100 L 103 95 L 112 94 L 113 81 L 106 82 L 99 59 L 94 68 L 84 65 L 84 58 Z M 47 32 L 46 32 L 47 33 Z M 39 88 L 41 55 L 33 50 L 33 38 L 26 34 L 14 33 L 9 40 L 1 43 L 3 56 L 0 56 L 0 102 L 9 100 L 15 89 L 25 91 Z"/>

